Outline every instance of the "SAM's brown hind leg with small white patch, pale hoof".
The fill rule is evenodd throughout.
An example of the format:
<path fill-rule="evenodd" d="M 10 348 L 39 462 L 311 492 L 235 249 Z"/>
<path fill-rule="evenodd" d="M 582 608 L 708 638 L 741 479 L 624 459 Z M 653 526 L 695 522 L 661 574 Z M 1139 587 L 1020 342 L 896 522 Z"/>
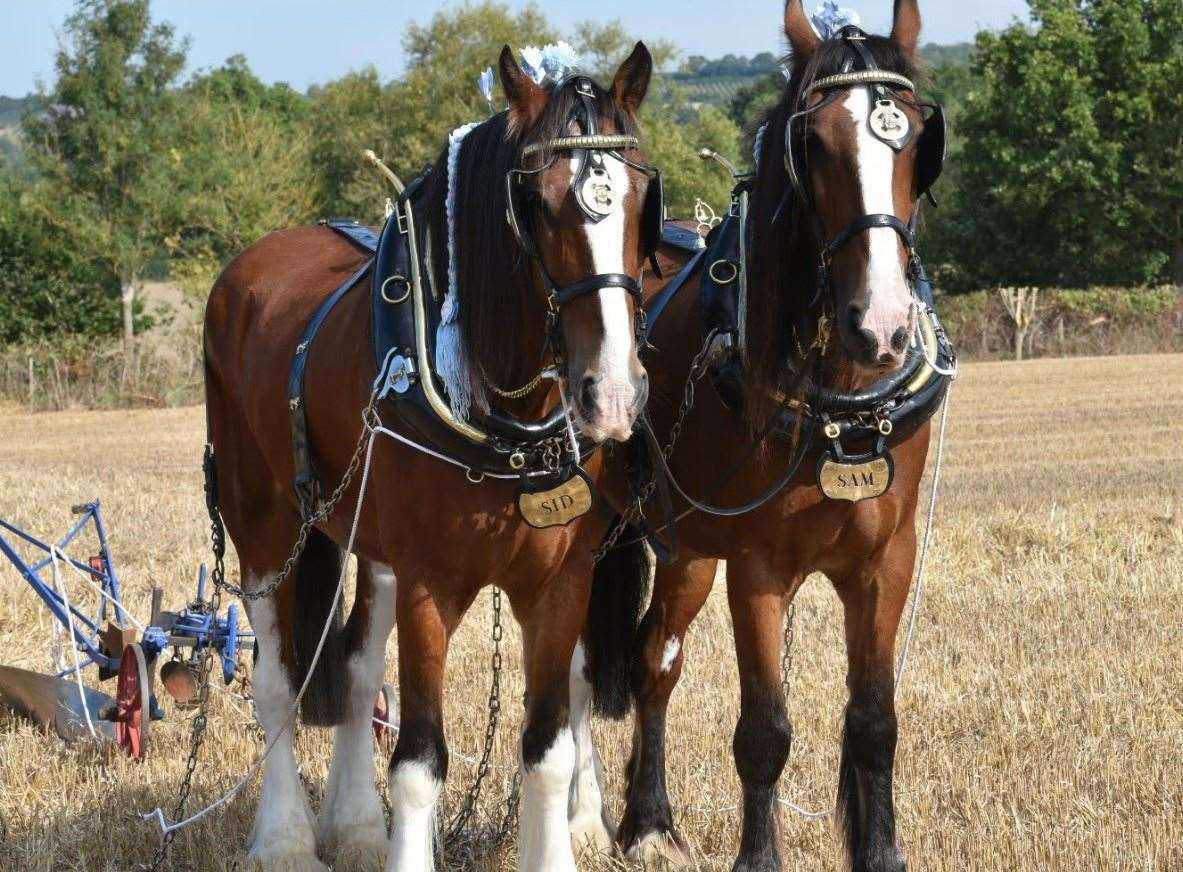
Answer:
<path fill-rule="evenodd" d="M 633 664 L 636 712 L 619 834 L 633 859 L 691 863 L 690 847 L 674 828 L 666 789 L 666 711 L 681 676 L 686 629 L 711 593 L 717 567 L 715 560 L 687 560 L 659 566 L 654 573 L 653 599 L 641 620 Z"/>

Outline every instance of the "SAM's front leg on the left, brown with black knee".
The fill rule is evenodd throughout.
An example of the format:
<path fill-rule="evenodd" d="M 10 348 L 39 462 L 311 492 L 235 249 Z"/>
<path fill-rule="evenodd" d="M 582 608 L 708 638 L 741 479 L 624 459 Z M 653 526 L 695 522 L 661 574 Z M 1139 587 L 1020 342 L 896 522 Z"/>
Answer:
<path fill-rule="evenodd" d="M 781 687 L 786 580 L 755 566 L 728 566 L 728 605 L 739 667 L 739 722 L 732 750 L 743 784 L 743 831 L 735 872 L 782 868 L 776 786 L 793 728 Z"/>

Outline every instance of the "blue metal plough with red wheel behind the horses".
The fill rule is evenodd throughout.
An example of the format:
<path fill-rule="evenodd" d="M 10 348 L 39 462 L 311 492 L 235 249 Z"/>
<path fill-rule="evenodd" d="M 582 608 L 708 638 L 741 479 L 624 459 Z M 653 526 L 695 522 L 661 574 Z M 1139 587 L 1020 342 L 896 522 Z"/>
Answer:
<path fill-rule="evenodd" d="M 238 672 L 239 655 L 254 647 L 254 635 L 239 629 L 237 606 L 230 606 L 225 615 L 209 611 L 203 566 L 196 598 L 186 608 L 163 611 L 157 587 L 148 622 L 136 621 L 123 603 L 99 503 L 76 505 L 73 513 L 77 521 L 57 542 L 43 541 L 0 518 L 0 554 L 41 599 L 73 646 L 73 661 L 53 678 L 0 667 L 0 698 L 39 723 L 58 724 L 63 735 L 63 723 L 77 731 L 85 722 L 85 729 L 112 737 L 141 758 L 151 722 L 163 717 L 153 680 L 153 667 L 164 659 L 161 655 L 172 650 L 160 671 L 161 683 L 177 703 L 186 704 L 196 695 L 199 658 L 206 648 L 214 650 L 222 679 L 230 684 Z M 69 555 L 83 538 L 95 542 L 95 550 L 84 561 Z M 97 611 L 88 612 L 71 601 L 65 573 L 97 594 Z M 117 678 L 114 699 L 82 687 L 79 673 L 91 665 L 98 667 L 101 680 Z"/>

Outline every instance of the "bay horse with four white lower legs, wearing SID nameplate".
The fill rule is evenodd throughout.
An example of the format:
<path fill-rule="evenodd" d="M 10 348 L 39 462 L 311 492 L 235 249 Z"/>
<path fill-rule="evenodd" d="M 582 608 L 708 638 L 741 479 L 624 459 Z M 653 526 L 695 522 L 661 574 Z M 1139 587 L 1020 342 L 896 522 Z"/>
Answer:
<path fill-rule="evenodd" d="M 494 392 L 497 385 L 529 382 L 539 361 L 556 363 L 548 359 L 547 336 L 557 332 L 571 416 L 595 441 L 626 439 L 647 392 L 629 290 L 639 295 L 646 254 L 641 214 L 653 174 L 623 153 L 638 148 L 636 112 L 652 67 L 649 52 L 638 44 L 609 90 L 582 76 L 539 85 L 506 46 L 499 71 L 508 110 L 476 125 L 458 151 L 445 147 L 419 205 L 431 240 L 425 264 L 432 288 L 450 286 L 450 269 L 455 271 L 473 380 L 479 373 Z M 616 198 L 601 202 L 602 220 L 576 202 L 574 182 L 584 161 L 601 174 L 595 193 L 610 189 Z M 287 230 L 243 252 L 209 298 L 209 437 L 221 512 L 248 592 L 278 577 L 302 524 L 292 487 L 289 367 L 310 317 L 363 263 L 357 247 L 329 227 Z M 354 292 L 331 310 L 308 351 L 310 451 L 330 484 L 345 474 L 363 433 L 361 413 L 376 375 L 374 330 L 368 295 Z M 535 421 L 560 401 L 557 387 L 536 379 L 530 389 L 499 389 L 517 398 L 499 411 Z M 599 454 L 586 472 L 600 477 Z M 433 867 L 435 805 L 448 764 L 442 722 L 448 642 L 478 592 L 496 583 L 509 595 L 525 648 L 519 866 L 574 870 L 565 815 L 574 766 L 568 664 L 584 621 L 592 550 L 607 518 L 593 512 L 568 527 L 534 529 L 513 509 L 515 482 L 473 482 L 479 476 L 394 440 L 375 445 L 370 478 L 348 620 L 331 615 L 331 603 L 349 556 L 343 543 L 357 483 L 345 491 L 342 504 L 349 510 L 315 527 L 292 575 L 273 595 L 247 602 L 258 639 L 258 717 L 269 743 L 276 743 L 248 864 L 325 870 L 324 858 L 334 868 Z M 305 723 L 336 726 L 317 821 L 285 726 L 293 689 L 308 677 L 330 616 L 331 632 L 302 700 Z M 389 763 L 388 834 L 373 779 L 370 717 L 395 625 L 400 731 Z"/>

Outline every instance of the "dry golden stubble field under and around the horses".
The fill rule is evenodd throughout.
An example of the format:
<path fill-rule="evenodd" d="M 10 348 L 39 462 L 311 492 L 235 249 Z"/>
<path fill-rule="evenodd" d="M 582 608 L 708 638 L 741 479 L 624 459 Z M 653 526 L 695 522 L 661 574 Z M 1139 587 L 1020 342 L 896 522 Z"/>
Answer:
<path fill-rule="evenodd" d="M 900 700 L 897 803 L 916 870 L 1183 867 L 1183 357 L 974 364 L 953 396 L 945 496 L 912 668 Z M 56 413 L 0 409 L 0 515 L 46 534 L 71 503 L 105 498 L 129 605 L 190 595 L 206 556 L 200 409 Z M 1172 519 L 1174 516 L 1174 519 Z M 49 664 L 47 613 L 0 568 L 6 663 Z M 487 595 L 453 648 L 448 736 L 473 756 L 489 682 Z M 821 580 L 800 601 L 783 793 L 825 806 L 836 781 L 840 620 Z M 511 634 L 506 699 L 521 698 Z M 726 870 L 737 842 L 730 756 L 737 713 L 731 631 L 716 592 L 687 640 L 674 696 L 670 782 L 702 868 Z M 393 666 L 392 666 L 393 676 Z M 222 695 L 195 799 L 233 782 L 259 750 L 248 713 Z M 497 762 L 511 766 L 517 706 Z M 619 813 L 628 728 L 597 728 Z M 188 745 L 186 716 L 155 725 L 149 760 L 65 748 L 0 719 L 0 841 L 7 868 L 127 870 L 151 828 L 128 815 L 168 805 Z M 328 734 L 299 751 L 319 800 Z M 454 808 L 472 766 L 453 756 Z M 509 770 L 484 809 L 497 814 Z M 258 784 L 183 834 L 176 868 L 230 867 Z M 788 868 L 836 870 L 827 823 L 787 816 Z M 487 867 L 509 866 L 512 848 Z M 584 868 L 609 864 L 586 861 Z"/>

